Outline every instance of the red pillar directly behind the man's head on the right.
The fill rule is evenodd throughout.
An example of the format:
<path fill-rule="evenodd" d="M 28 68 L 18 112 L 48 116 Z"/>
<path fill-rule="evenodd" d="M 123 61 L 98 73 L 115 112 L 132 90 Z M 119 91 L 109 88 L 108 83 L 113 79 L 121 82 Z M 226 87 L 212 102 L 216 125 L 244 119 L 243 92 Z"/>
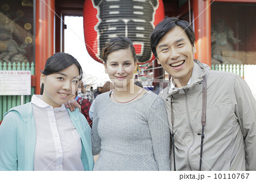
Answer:
<path fill-rule="evenodd" d="M 210 0 L 193 0 L 193 19 L 196 35 L 195 59 L 211 65 Z"/>

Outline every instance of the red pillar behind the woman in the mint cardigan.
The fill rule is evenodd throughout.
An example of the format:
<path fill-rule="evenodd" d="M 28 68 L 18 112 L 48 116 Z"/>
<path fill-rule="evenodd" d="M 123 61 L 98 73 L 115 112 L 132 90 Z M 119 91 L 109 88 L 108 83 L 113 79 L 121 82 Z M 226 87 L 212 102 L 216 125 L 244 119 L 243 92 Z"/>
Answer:
<path fill-rule="evenodd" d="M 40 75 L 48 57 L 54 53 L 55 0 L 36 1 L 35 94 L 40 94 Z"/>

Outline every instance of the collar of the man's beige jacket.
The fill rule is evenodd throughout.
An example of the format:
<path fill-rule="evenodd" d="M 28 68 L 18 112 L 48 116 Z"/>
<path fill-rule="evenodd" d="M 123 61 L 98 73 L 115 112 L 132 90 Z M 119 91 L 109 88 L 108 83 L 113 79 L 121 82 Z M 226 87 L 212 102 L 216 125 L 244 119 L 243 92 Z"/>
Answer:
<path fill-rule="evenodd" d="M 171 89 L 171 80 L 168 83 L 168 97 L 171 96 L 172 94 L 180 93 L 183 91 L 182 89 L 191 89 L 194 85 L 200 83 L 203 81 L 203 77 L 208 71 L 210 67 L 206 64 L 202 64 L 199 60 L 194 60 L 194 65 L 193 65 L 193 70 L 192 70 L 192 75 L 191 75 L 191 83 L 188 85 L 185 85 L 181 89 Z"/>

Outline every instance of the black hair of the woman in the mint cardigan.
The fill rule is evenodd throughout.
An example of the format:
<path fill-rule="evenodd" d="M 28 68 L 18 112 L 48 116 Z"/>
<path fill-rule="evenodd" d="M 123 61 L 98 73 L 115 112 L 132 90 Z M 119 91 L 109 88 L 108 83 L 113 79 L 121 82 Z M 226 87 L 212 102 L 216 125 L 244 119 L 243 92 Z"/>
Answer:
<path fill-rule="evenodd" d="M 49 57 L 46 61 L 46 65 L 44 66 L 44 70 L 42 71 L 42 74 L 49 75 L 56 72 L 59 72 L 65 68 L 68 68 L 69 66 L 75 64 L 77 68 L 79 69 L 79 74 L 82 75 L 82 68 L 79 62 L 74 58 L 71 54 L 68 53 L 55 53 L 51 57 Z M 82 79 L 82 76 L 80 76 L 80 79 Z M 41 85 L 41 91 L 40 94 L 43 95 L 44 92 L 44 84 Z"/>

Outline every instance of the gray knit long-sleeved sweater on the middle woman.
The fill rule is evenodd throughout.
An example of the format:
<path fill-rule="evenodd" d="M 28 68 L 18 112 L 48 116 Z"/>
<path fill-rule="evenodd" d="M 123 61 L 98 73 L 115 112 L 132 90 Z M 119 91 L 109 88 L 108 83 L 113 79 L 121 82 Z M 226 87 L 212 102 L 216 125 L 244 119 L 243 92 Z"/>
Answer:
<path fill-rule="evenodd" d="M 93 170 L 170 170 L 170 129 L 163 101 L 148 91 L 129 103 L 110 92 L 94 100 Z"/>

